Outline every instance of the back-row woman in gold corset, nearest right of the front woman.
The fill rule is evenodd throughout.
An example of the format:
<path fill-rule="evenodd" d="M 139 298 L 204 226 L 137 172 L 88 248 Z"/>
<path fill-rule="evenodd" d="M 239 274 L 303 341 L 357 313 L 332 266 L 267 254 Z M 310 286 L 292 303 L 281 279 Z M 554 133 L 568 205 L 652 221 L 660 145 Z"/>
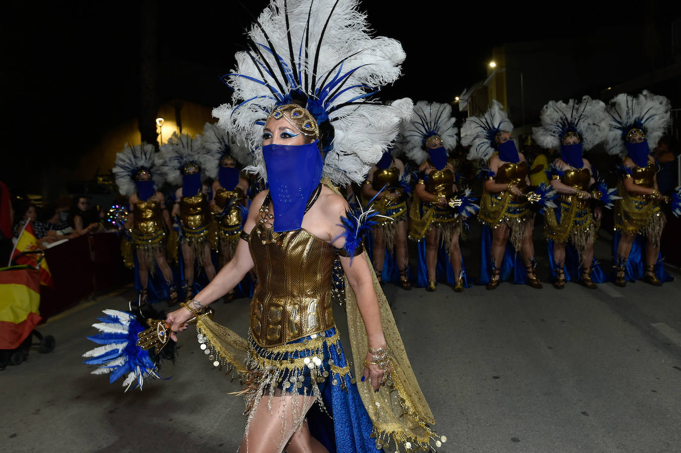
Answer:
<path fill-rule="evenodd" d="M 362 184 L 362 198 L 364 204 L 373 199 L 380 192 L 370 208 L 379 214 L 377 225 L 373 228 L 372 261 L 379 282 L 382 277 L 391 280 L 394 275 L 383 275 L 383 270 L 390 274 L 394 271 L 392 256 L 396 255 L 398 281 L 404 290 L 411 290 L 409 281 L 409 252 L 407 251 L 407 199 L 409 193 L 405 191 L 400 181 L 405 174 L 405 164 L 397 157 L 393 157 L 391 150 L 383 153 L 381 160 L 371 167 L 366 180 Z M 385 253 L 388 253 L 389 263 L 385 263 Z M 385 265 L 384 265 L 385 264 Z M 391 266 L 392 265 L 392 266 Z M 397 282 L 394 282 L 397 283 Z"/>

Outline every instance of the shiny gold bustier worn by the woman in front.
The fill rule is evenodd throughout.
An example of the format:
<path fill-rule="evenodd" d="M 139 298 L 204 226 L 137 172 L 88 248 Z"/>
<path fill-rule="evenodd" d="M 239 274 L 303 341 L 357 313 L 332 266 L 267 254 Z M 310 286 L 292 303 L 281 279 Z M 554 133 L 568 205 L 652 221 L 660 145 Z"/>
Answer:
<path fill-rule="evenodd" d="M 283 345 L 334 326 L 333 248 L 310 232 L 273 233 L 258 224 L 249 238 L 257 286 L 251 335 L 262 347 Z"/>

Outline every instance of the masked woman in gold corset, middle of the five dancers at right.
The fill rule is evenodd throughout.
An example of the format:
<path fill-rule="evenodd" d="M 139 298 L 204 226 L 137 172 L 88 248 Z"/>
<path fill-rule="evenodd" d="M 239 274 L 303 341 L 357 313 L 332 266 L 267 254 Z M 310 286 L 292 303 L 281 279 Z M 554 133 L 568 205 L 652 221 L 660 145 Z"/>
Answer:
<path fill-rule="evenodd" d="M 512 130 L 503 106 L 496 100 L 485 114 L 469 117 L 461 128 L 462 144 L 471 146 L 469 159 L 486 161 L 479 219 L 483 224 L 480 283 L 488 290 L 505 279 L 542 287 L 535 275 L 535 215 L 526 196 L 530 184 L 527 161 L 518 153 Z M 509 243 L 511 247 L 507 247 Z M 522 262 L 518 260 L 519 251 Z"/>

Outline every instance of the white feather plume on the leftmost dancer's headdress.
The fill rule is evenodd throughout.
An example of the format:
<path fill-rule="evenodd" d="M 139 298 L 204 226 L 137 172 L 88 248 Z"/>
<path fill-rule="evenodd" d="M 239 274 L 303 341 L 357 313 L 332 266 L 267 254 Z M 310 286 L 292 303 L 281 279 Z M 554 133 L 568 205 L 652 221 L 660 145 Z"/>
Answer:
<path fill-rule="evenodd" d="M 163 184 L 163 174 L 155 168 L 154 154 L 154 145 L 145 142 L 133 146 L 126 143 L 123 151 L 116 153 L 116 162 L 111 172 L 116 178 L 118 193 L 129 197 L 137 192 L 135 176 L 142 168 L 151 173 L 155 188 Z"/>

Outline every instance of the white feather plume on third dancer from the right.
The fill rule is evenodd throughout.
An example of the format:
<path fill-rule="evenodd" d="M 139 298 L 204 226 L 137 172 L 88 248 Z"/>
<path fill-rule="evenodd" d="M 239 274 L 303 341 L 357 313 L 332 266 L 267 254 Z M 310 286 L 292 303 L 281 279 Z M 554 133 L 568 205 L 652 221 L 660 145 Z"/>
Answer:
<path fill-rule="evenodd" d="M 513 133 L 508 114 L 496 99 L 481 116 L 471 116 L 461 126 L 461 144 L 471 146 L 468 159 L 489 159 L 496 151 L 496 134 L 501 131 Z"/>

